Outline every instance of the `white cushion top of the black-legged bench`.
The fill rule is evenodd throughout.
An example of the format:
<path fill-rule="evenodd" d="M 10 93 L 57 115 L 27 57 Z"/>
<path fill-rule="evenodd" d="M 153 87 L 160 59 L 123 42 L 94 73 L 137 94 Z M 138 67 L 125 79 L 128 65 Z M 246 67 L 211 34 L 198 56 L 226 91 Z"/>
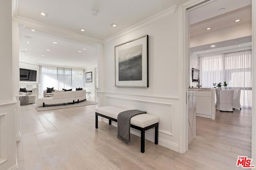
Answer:
<path fill-rule="evenodd" d="M 123 108 L 115 107 L 115 106 L 104 106 L 104 107 L 96 108 L 97 113 L 106 115 L 108 117 L 112 117 L 114 119 L 117 119 L 117 115 L 120 112 L 126 111 L 126 110 L 128 110 L 128 109 L 123 109 Z M 159 121 L 159 119 L 155 115 L 140 114 L 140 115 L 136 115 L 136 116 L 132 117 L 131 124 L 138 126 L 138 127 L 147 127 L 154 123 L 158 123 L 158 121 Z"/>

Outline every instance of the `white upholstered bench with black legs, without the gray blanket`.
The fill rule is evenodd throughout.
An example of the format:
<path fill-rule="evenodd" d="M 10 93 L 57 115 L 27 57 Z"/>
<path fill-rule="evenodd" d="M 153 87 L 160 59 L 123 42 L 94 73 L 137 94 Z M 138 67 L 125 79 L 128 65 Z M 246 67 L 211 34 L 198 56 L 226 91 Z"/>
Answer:
<path fill-rule="evenodd" d="M 117 115 L 128 109 L 123 109 L 114 106 L 98 107 L 95 111 L 95 127 L 98 129 L 98 116 L 105 117 L 108 119 L 108 124 L 111 125 L 111 121 L 117 122 Z M 140 139 L 140 151 L 145 151 L 145 131 L 155 127 L 155 144 L 158 144 L 158 122 L 159 119 L 155 115 L 140 114 L 131 118 L 130 127 L 141 131 Z"/>

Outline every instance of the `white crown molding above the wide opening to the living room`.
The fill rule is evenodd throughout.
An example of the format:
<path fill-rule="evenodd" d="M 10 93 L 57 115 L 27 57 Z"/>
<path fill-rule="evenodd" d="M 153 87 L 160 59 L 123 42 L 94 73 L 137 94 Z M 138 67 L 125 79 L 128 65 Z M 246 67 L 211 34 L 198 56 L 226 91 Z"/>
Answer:
<path fill-rule="evenodd" d="M 13 21 L 16 21 L 18 23 L 21 23 L 24 25 L 24 27 L 28 27 L 28 28 L 33 28 L 35 30 L 38 31 L 42 31 L 45 33 L 50 33 L 53 35 L 60 35 L 62 37 L 68 38 L 68 39 L 74 39 L 76 41 L 81 41 L 81 42 L 85 42 L 85 43 L 90 43 L 93 45 L 98 45 L 98 44 L 102 44 L 103 41 L 101 39 L 97 39 L 94 37 L 89 37 L 86 35 L 82 35 L 79 33 L 75 33 L 66 29 L 62 29 L 59 27 L 54 27 L 52 25 L 47 25 L 38 21 L 34 21 L 34 20 L 29 20 L 27 18 L 23 18 L 20 16 L 15 16 L 14 18 L 12 18 Z"/>

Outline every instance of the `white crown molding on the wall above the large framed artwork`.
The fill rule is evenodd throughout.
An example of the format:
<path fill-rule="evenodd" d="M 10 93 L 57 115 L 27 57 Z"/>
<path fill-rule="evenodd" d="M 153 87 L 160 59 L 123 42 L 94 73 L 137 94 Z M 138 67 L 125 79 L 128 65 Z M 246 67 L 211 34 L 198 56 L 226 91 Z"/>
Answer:
<path fill-rule="evenodd" d="M 178 9 L 178 5 L 174 5 L 170 8 L 167 8 L 166 10 L 164 10 L 162 12 L 159 12 L 158 14 L 155 14 L 155 15 L 151 16 L 150 18 L 147 18 L 146 20 L 143 20 L 139 23 L 136 23 L 135 25 L 132 25 L 131 27 L 129 27 L 127 29 L 124 29 L 123 31 L 120 31 L 119 33 L 116 33 L 116 34 L 104 39 L 103 42 L 105 43 L 107 41 L 111 41 L 113 39 L 116 39 L 116 38 L 121 37 L 123 35 L 126 35 L 128 33 L 136 31 L 137 29 L 145 27 L 146 25 L 149 25 L 149 24 L 154 23 L 158 20 L 161 20 L 162 18 L 170 16 L 170 15 L 174 14 L 177 9 Z"/>

